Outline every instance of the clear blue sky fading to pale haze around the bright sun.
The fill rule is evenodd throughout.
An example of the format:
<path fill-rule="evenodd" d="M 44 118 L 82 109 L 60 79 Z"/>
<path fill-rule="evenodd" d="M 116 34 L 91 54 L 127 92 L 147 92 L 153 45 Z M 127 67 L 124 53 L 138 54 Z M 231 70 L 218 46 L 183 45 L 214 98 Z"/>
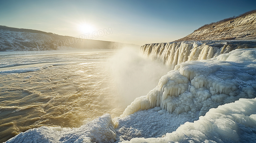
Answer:
<path fill-rule="evenodd" d="M 255 0 L 0 0 L 0 25 L 144 45 L 253 9 Z"/>

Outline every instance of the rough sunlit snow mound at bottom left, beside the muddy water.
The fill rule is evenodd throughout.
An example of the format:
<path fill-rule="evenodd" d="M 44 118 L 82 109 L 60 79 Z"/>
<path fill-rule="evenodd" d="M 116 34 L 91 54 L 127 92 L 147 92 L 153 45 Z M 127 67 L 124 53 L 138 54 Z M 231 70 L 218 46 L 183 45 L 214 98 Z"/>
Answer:
<path fill-rule="evenodd" d="M 109 114 L 100 116 L 79 128 L 45 127 L 30 129 L 9 139 L 5 143 L 91 143 L 114 142 L 116 131 Z"/>

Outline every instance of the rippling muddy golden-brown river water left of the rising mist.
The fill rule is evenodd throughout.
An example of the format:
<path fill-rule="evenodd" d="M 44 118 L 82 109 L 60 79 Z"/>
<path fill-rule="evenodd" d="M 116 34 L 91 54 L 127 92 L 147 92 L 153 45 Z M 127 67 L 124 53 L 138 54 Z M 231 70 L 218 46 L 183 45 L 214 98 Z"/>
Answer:
<path fill-rule="evenodd" d="M 40 126 L 79 127 L 104 113 L 119 116 L 125 107 L 106 68 L 114 53 L 2 52 L 0 142 Z"/>

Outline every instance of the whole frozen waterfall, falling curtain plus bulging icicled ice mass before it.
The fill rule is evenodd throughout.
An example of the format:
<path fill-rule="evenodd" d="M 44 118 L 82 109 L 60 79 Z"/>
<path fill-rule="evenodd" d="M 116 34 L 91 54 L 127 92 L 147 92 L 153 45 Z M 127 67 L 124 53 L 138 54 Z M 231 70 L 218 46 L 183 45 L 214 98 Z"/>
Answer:
<path fill-rule="evenodd" d="M 136 98 L 121 117 L 160 106 L 168 112 L 199 112 L 239 98 L 256 97 L 255 41 L 197 41 L 149 44 L 141 52 L 174 70 L 147 96 Z M 193 60 L 193 61 L 192 61 Z"/>

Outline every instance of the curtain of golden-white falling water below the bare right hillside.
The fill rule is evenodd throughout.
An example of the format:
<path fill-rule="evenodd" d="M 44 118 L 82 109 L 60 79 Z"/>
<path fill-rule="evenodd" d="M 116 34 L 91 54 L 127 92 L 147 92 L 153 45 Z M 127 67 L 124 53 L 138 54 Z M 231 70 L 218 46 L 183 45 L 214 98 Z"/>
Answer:
<path fill-rule="evenodd" d="M 145 44 L 140 52 L 153 59 L 159 59 L 174 69 L 186 61 L 211 59 L 234 49 L 255 48 L 256 41 L 184 41 Z"/>

